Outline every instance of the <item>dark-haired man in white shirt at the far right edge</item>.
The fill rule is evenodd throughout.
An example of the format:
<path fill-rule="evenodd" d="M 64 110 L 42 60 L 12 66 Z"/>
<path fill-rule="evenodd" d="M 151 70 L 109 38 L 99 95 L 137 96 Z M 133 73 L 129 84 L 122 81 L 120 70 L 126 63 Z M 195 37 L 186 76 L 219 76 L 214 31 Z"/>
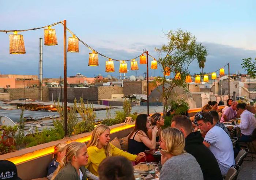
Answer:
<path fill-rule="evenodd" d="M 253 113 L 246 110 L 243 103 L 237 104 L 237 113 L 240 114 L 241 122 L 238 127 L 241 129 L 241 137 L 239 141 L 248 142 L 251 138 L 253 130 L 256 128 L 256 119 Z"/>

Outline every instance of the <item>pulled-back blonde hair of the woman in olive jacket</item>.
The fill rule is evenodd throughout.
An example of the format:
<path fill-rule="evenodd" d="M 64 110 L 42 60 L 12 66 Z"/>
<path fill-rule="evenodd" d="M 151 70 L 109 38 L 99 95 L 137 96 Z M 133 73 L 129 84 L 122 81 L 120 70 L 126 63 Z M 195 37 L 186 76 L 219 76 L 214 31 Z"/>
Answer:
<path fill-rule="evenodd" d="M 60 172 L 60 170 L 67 164 L 71 163 L 72 158 L 75 156 L 78 156 L 78 151 L 82 149 L 85 145 L 85 143 L 82 142 L 71 142 L 66 145 L 66 155 L 61 160 L 58 168 L 54 171 L 53 177 L 51 180 L 54 180 L 57 174 Z"/>

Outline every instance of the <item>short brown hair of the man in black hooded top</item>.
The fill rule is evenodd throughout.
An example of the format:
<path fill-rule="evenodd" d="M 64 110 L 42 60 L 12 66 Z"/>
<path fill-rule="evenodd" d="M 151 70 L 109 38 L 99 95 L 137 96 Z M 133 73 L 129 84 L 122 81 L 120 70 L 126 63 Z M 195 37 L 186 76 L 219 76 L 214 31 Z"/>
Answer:
<path fill-rule="evenodd" d="M 183 127 L 187 133 L 192 133 L 193 131 L 193 125 L 191 120 L 184 115 L 176 115 L 173 116 L 172 122 L 175 122 L 175 125 Z"/>

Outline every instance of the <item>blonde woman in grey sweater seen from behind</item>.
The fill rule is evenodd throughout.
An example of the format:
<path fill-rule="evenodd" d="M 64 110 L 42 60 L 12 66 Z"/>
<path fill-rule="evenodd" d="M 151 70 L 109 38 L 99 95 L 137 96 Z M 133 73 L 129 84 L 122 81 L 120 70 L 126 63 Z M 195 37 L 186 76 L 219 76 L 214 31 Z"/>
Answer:
<path fill-rule="evenodd" d="M 160 148 L 162 169 L 159 180 L 203 180 L 195 157 L 184 150 L 185 138 L 180 130 L 173 127 L 164 129 Z"/>

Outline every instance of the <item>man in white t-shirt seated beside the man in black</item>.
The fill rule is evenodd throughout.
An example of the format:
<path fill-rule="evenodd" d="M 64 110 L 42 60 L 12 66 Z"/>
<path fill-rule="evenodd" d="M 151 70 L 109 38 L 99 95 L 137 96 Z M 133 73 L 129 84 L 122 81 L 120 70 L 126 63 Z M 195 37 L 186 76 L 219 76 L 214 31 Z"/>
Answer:
<path fill-rule="evenodd" d="M 226 175 L 229 168 L 235 164 L 230 137 L 222 128 L 213 125 L 213 118 L 209 112 L 202 112 L 196 120 L 199 129 L 206 133 L 204 145 L 214 154 L 221 169 L 221 174 Z"/>

